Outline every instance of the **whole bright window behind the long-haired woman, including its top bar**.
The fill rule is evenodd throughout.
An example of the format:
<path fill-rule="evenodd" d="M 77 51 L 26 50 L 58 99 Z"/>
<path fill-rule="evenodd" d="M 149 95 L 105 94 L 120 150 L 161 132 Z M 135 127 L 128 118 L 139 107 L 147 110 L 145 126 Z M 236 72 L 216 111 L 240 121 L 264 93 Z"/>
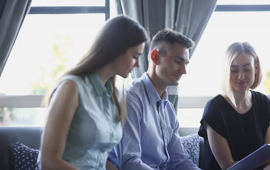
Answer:
<path fill-rule="evenodd" d="M 0 94 L 40 99 L 84 55 L 109 16 L 109 0 L 33 0 L 1 74 Z M 42 125 L 45 115 L 45 108 L 0 108 L 0 125 Z"/>

